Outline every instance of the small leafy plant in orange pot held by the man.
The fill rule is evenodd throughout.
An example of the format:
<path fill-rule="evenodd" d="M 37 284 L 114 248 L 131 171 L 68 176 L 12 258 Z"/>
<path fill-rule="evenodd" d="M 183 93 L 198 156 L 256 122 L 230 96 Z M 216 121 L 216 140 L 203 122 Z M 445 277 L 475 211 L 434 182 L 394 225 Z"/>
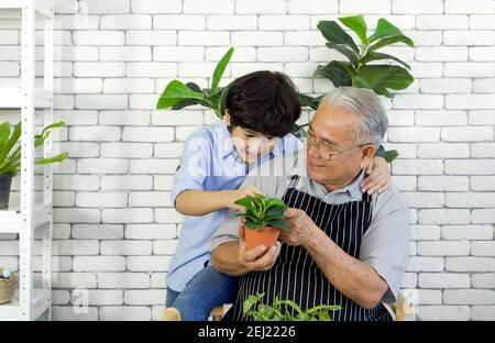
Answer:
<path fill-rule="evenodd" d="M 238 213 L 243 218 L 245 230 L 245 247 L 251 250 L 257 245 L 270 247 L 275 245 L 280 230 L 287 230 L 288 223 L 284 218 L 287 204 L 279 199 L 265 198 L 256 193 L 239 199 L 235 204 L 243 206 L 245 212 Z"/>

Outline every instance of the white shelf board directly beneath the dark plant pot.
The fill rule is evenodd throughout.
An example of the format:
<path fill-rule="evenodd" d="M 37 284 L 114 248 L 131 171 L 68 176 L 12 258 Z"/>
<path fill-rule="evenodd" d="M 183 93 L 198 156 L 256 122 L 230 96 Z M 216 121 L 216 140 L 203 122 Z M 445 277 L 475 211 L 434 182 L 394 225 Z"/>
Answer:
<path fill-rule="evenodd" d="M 35 203 L 33 210 L 34 228 L 47 223 L 51 219 L 51 203 Z M 21 210 L 8 208 L 0 210 L 0 233 L 20 233 L 22 224 Z"/>

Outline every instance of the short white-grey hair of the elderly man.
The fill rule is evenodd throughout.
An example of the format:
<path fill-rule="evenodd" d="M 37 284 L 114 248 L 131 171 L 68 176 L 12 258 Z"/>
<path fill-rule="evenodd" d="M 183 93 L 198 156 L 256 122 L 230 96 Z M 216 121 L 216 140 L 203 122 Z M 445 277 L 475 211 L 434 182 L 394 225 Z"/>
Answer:
<path fill-rule="evenodd" d="M 356 143 L 364 144 L 363 139 L 372 140 L 370 143 L 382 144 L 388 126 L 385 108 L 378 96 L 372 90 L 355 87 L 338 87 L 328 92 L 320 102 L 320 107 L 329 103 L 361 117 L 358 128 Z"/>

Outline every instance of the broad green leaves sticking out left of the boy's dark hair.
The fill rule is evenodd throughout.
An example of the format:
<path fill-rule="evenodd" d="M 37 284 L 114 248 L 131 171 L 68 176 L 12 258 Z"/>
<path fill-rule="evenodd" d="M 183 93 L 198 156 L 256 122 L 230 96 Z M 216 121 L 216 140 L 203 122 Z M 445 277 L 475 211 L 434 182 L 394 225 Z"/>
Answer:
<path fill-rule="evenodd" d="M 232 57 L 234 48 L 231 47 L 217 64 L 211 78 L 211 88 L 201 89 L 195 82 L 183 84 L 179 80 L 170 81 L 158 99 L 156 109 L 182 110 L 188 106 L 201 104 L 212 109 L 218 118 L 224 114 L 226 96 L 228 87 L 219 87 L 220 80 Z"/>

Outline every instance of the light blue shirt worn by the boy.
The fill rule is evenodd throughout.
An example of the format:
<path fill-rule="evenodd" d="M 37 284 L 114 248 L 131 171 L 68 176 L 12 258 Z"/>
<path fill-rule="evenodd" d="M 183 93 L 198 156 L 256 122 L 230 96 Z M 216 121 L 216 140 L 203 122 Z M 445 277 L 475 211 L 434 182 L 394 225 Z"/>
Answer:
<path fill-rule="evenodd" d="M 250 169 L 301 147 L 302 143 L 289 133 L 278 140 L 271 153 L 248 165 L 235 151 L 226 123 L 200 128 L 184 143 L 180 167 L 172 189 L 172 201 L 175 204 L 177 196 L 187 189 L 237 189 Z M 193 276 L 205 267 L 210 259 L 211 236 L 227 213 L 228 209 L 222 209 L 205 215 L 185 217 L 177 251 L 168 270 L 167 287 L 183 291 Z"/>

